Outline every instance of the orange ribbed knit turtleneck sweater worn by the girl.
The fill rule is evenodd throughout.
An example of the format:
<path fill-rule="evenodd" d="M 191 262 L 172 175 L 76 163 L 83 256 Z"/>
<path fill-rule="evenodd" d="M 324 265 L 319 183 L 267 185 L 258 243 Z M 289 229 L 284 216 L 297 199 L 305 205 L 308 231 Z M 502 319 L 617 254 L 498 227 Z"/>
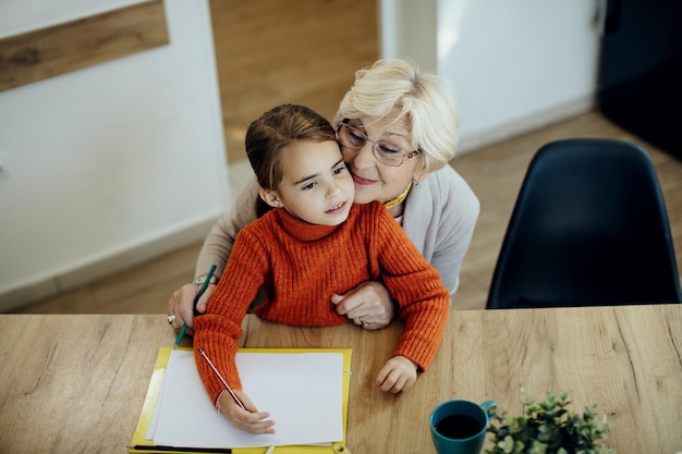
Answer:
<path fill-rule="evenodd" d="M 280 208 L 244 228 L 206 314 L 194 323 L 195 361 L 214 402 L 223 386 L 197 349 L 203 347 L 228 383 L 241 389 L 236 340 L 259 287 L 266 292 L 256 309 L 260 318 L 331 327 L 349 322 L 337 314 L 331 294 L 377 279 L 405 322 L 393 355 L 426 370 L 440 345 L 450 293 L 381 204 L 354 205 L 348 220 L 334 226 L 309 224 Z"/>

